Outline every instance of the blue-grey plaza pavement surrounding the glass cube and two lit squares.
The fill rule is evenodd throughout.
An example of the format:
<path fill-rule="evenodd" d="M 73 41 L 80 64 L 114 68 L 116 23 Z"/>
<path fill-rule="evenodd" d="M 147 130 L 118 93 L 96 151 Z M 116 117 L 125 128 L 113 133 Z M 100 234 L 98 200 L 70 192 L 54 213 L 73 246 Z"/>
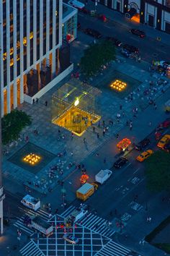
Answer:
<path fill-rule="evenodd" d="M 128 75 L 135 80 L 138 80 L 139 85 L 136 88 L 133 88 L 133 101 L 128 100 L 128 96 L 125 95 L 124 98 L 119 97 L 116 93 L 112 93 L 112 90 L 106 90 L 104 86 L 102 86 L 110 77 L 112 80 L 112 76 L 114 72 L 120 72 Z M 65 179 L 68 174 L 73 171 L 73 168 L 68 168 L 69 163 L 75 162 L 76 164 L 80 163 L 84 160 L 84 158 L 88 157 L 91 153 L 93 153 L 97 148 L 101 148 L 104 142 L 110 140 L 112 137 L 115 137 L 117 133 L 119 133 L 120 129 L 125 127 L 126 121 L 133 119 L 133 108 L 138 107 L 138 113 L 148 106 L 149 97 L 155 99 L 161 95 L 161 90 L 167 90 L 169 88 L 168 85 L 156 85 L 156 81 L 158 80 L 159 75 L 155 74 L 151 77 L 151 74 L 144 69 L 140 69 L 140 67 L 135 67 L 135 64 L 132 64 L 131 61 L 124 60 L 122 58 L 121 63 L 117 63 L 115 61 L 104 69 L 101 74 L 97 75 L 91 80 L 91 85 L 101 85 L 99 88 L 102 90 L 102 94 L 99 95 L 99 114 L 102 116 L 100 127 L 94 125 L 96 131 L 92 131 L 92 127 L 86 130 L 82 137 L 73 137 L 71 140 L 71 132 L 68 132 L 66 129 L 59 128 L 55 124 L 51 123 L 51 95 L 61 86 L 55 86 L 52 90 L 42 96 L 38 103 L 30 106 L 28 103 L 24 103 L 20 108 L 23 111 L 26 111 L 27 114 L 32 116 L 32 125 L 24 129 L 22 132 L 22 141 L 17 142 L 17 145 L 11 145 L 8 148 L 9 155 L 4 155 L 3 161 L 3 173 L 9 179 L 15 179 L 20 184 L 27 184 L 27 182 L 31 182 L 29 187 L 37 190 L 38 192 L 48 192 L 48 189 L 53 189 L 58 180 Z M 164 78 L 165 79 L 165 78 Z M 67 80 L 67 79 L 66 79 Z M 65 80 L 65 82 L 66 82 Z M 149 95 L 144 96 L 143 91 L 149 89 L 149 81 L 153 80 L 155 85 L 151 88 Z M 133 80 L 132 80 L 133 81 Z M 140 90 L 138 91 L 139 88 Z M 156 90 L 156 91 L 155 91 Z M 45 101 L 48 101 L 48 106 L 45 106 Z M 122 110 L 120 110 L 120 105 L 122 105 Z M 97 109 L 98 111 L 98 109 Z M 124 112 L 124 116 L 122 116 L 122 112 Z M 116 115 L 121 114 L 120 122 L 117 123 Z M 102 135 L 103 127 L 102 121 L 105 121 L 105 125 L 109 127 L 108 132 L 105 136 Z M 109 120 L 113 121 L 113 126 L 109 126 Z M 38 135 L 33 133 L 33 130 L 37 129 Z M 58 129 L 61 130 L 61 134 L 64 137 L 59 138 Z M 97 139 L 97 132 L 99 132 L 99 139 Z M 19 148 L 25 145 L 25 138 L 29 137 L 29 141 L 34 143 L 35 145 L 50 151 L 51 153 L 57 155 L 58 153 L 63 153 L 63 150 L 66 149 L 66 156 L 62 158 L 56 158 L 42 168 L 40 172 L 36 174 L 32 174 L 29 171 L 23 171 L 19 166 L 15 166 L 13 163 L 8 161 L 11 155 L 13 155 Z M 86 137 L 87 146 L 84 145 L 83 138 Z M 71 155 L 73 153 L 73 155 Z M 60 163 L 61 162 L 61 163 Z M 55 178 L 49 178 L 48 170 L 50 166 L 55 164 L 61 164 L 61 168 L 63 169 L 63 175 L 57 174 Z M 39 181 L 39 187 L 35 187 L 34 183 Z M 10 189 L 9 189 L 10 190 Z"/>

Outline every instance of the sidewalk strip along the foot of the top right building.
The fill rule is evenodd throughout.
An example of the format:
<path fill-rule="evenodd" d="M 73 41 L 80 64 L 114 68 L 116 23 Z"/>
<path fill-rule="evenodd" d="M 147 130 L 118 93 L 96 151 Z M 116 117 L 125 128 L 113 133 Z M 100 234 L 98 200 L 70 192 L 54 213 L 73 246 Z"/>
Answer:
<path fill-rule="evenodd" d="M 81 0 L 82 2 L 85 1 Z M 88 1 L 88 4 L 86 5 L 87 9 L 93 10 L 94 9 L 94 2 L 93 1 Z M 115 25 L 122 25 L 124 27 L 127 27 L 127 29 L 129 30 L 130 28 L 138 28 L 140 30 L 143 30 L 146 32 L 147 37 L 153 38 L 154 40 L 156 40 L 157 37 L 161 38 L 161 43 L 167 44 L 169 45 L 169 40 L 170 40 L 170 35 L 167 33 L 164 33 L 160 30 L 156 30 L 153 27 L 149 27 L 148 25 L 143 25 L 137 22 L 133 22 L 130 20 L 127 20 L 125 18 L 125 15 L 122 14 L 121 12 L 117 12 L 113 9 L 109 9 L 107 7 L 105 7 L 103 4 L 98 4 L 97 5 L 97 13 L 98 14 L 105 14 L 107 18 L 109 18 L 109 20 L 112 20 Z"/>

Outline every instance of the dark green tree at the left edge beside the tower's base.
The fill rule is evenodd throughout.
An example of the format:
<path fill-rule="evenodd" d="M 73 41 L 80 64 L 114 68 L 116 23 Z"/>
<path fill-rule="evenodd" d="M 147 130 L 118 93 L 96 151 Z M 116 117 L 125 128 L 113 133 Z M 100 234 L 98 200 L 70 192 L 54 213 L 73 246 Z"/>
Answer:
<path fill-rule="evenodd" d="M 23 111 L 13 110 L 1 119 L 2 143 L 4 145 L 17 140 L 19 133 L 32 123 L 32 119 Z"/>

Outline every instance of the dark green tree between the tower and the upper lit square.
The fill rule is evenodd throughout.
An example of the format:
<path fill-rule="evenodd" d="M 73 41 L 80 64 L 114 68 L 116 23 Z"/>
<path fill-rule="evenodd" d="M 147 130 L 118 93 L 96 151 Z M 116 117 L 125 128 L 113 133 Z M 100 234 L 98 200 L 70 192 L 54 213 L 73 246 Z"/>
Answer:
<path fill-rule="evenodd" d="M 102 65 L 113 59 L 115 59 L 115 46 L 109 40 L 101 40 L 84 51 L 80 62 L 81 71 L 87 77 L 91 77 Z"/>

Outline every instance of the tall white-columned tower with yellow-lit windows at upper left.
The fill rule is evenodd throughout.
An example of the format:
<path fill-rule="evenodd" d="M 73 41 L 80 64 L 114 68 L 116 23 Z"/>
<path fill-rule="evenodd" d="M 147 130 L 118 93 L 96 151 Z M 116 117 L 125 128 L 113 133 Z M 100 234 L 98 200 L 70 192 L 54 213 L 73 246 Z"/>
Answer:
<path fill-rule="evenodd" d="M 2 115 L 34 102 L 71 72 L 69 51 L 62 46 L 62 4 L 0 0 Z"/>

